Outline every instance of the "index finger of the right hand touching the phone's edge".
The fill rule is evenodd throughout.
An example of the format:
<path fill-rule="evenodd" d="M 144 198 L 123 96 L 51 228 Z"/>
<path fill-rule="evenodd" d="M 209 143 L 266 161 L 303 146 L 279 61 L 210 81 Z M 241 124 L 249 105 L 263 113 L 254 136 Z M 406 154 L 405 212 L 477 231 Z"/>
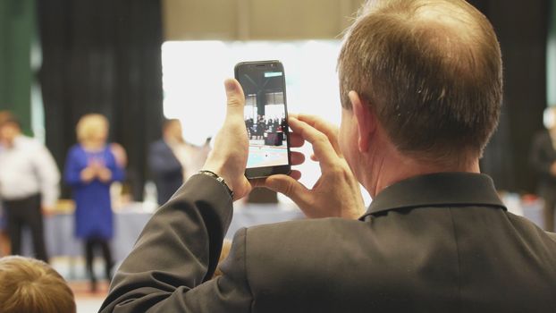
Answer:
<path fill-rule="evenodd" d="M 303 139 L 307 140 L 313 146 L 313 151 L 319 160 L 321 169 L 323 169 L 323 166 L 327 167 L 334 165 L 338 159 L 338 154 L 323 132 L 316 130 L 316 128 L 296 118 L 290 119 L 290 126 L 293 131 L 299 133 Z"/>

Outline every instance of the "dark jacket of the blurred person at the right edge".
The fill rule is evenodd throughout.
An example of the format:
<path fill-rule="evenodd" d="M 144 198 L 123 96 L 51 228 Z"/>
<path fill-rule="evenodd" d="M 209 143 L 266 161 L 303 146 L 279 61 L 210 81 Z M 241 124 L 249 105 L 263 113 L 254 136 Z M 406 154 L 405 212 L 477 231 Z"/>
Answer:
<path fill-rule="evenodd" d="M 556 192 L 556 177 L 550 172 L 551 166 L 556 162 L 556 150 L 552 145 L 552 138 L 548 131 L 539 131 L 533 138 L 531 151 L 529 154 L 531 165 L 538 174 L 539 190 L 538 192 L 546 197 L 547 192 Z M 553 199 L 554 196 L 550 195 Z"/>

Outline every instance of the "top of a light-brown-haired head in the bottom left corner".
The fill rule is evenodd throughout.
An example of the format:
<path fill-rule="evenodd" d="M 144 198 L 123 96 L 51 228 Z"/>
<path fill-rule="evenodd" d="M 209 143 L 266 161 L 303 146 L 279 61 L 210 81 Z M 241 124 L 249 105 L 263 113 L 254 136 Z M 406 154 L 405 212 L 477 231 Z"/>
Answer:
<path fill-rule="evenodd" d="M 0 258 L 0 312 L 75 313 L 73 292 L 63 277 L 33 258 Z"/>

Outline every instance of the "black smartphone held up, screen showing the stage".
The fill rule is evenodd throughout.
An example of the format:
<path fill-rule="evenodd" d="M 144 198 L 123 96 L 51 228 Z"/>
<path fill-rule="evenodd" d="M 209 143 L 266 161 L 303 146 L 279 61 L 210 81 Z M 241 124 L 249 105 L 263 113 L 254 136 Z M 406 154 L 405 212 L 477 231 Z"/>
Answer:
<path fill-rule="evenodd" d="M 279 61 L 238 63 L 234 69 L 245 94 L 243 117 L 249 138 L 247 178 L 291 172 L 286 83 Z"/>

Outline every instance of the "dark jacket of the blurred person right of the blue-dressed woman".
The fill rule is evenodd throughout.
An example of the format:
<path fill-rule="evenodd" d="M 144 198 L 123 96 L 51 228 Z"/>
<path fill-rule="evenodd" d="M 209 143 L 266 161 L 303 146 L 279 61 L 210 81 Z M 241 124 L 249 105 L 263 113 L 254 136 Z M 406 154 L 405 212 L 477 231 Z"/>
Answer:
<path fill-rule="evenodd" d="M 148 166 L 155 180 L 158 204 L 162 205 L 183 183 L 183 168 L 164 140 L 157 140 L 150 145 Z"/>

